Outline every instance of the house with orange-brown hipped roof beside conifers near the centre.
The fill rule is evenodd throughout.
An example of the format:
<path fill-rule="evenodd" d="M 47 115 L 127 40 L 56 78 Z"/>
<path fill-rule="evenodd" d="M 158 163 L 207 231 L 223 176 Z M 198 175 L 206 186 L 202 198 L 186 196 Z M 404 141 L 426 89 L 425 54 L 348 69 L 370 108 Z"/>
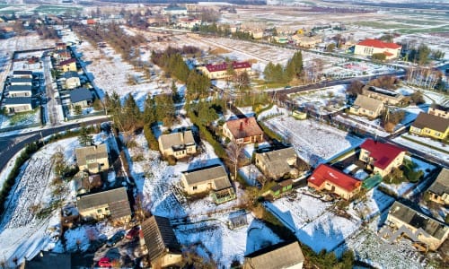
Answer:
<path fill-rule="evenodd" d="M 245 117 L 226 121 L 223 134 L 235 143 L 263 142 L 263 131 L 255 117 Z"/>

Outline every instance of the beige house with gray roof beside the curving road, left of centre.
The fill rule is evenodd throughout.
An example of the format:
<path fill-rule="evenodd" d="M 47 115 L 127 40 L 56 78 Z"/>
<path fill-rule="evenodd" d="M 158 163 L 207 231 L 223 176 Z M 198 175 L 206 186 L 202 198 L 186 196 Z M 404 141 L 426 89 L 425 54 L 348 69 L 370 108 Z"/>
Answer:
<path fill-rule="evenodd" d="M 75 149 L 76 162 L 81 171 L 92 174 L 110 169 L 108 147 L 105 143 Z"/>

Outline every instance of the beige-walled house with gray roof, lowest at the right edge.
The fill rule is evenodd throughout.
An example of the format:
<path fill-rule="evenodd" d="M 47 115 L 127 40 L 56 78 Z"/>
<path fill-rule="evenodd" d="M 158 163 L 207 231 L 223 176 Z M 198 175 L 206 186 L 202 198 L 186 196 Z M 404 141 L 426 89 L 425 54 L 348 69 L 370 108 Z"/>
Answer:
<path fill-rule="evenodd" d="M 430 250 L 440 247 L 449 235 L 449 227 L 445 223 L 436 221 L 398 201 L 392 204 L 386 222 L 398 231 L 398 236 L 406 235 L 409 239 L 425 243 Z"/>

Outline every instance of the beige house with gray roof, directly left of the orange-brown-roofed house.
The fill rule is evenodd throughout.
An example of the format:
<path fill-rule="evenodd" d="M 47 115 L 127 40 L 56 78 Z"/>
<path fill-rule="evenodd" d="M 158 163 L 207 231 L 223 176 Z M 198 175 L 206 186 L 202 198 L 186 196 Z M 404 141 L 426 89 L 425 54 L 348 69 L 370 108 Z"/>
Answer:
<path fill-rule="evenodd" d="M 197 144 L 190 130 L 180 133 L 162 134 L 157 141 L 159 142 L 159 150 L 165 157 L 173 156 L 176 159 L 182 159 L 197 152 Z"/>

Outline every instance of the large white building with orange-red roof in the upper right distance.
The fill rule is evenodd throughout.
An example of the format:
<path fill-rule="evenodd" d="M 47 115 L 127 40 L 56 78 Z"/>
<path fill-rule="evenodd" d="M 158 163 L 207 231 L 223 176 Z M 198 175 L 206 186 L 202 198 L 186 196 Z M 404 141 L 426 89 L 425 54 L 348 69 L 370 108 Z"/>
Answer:
<path fill-rule="evenodd" d="M 396 43 L 387 43 L 378 39 L 365 39 L 356 45 L 355 55 L 373 56 L 383 53 L 386 59 L 394 59 L 401 56 L 402 46 Z"/>

